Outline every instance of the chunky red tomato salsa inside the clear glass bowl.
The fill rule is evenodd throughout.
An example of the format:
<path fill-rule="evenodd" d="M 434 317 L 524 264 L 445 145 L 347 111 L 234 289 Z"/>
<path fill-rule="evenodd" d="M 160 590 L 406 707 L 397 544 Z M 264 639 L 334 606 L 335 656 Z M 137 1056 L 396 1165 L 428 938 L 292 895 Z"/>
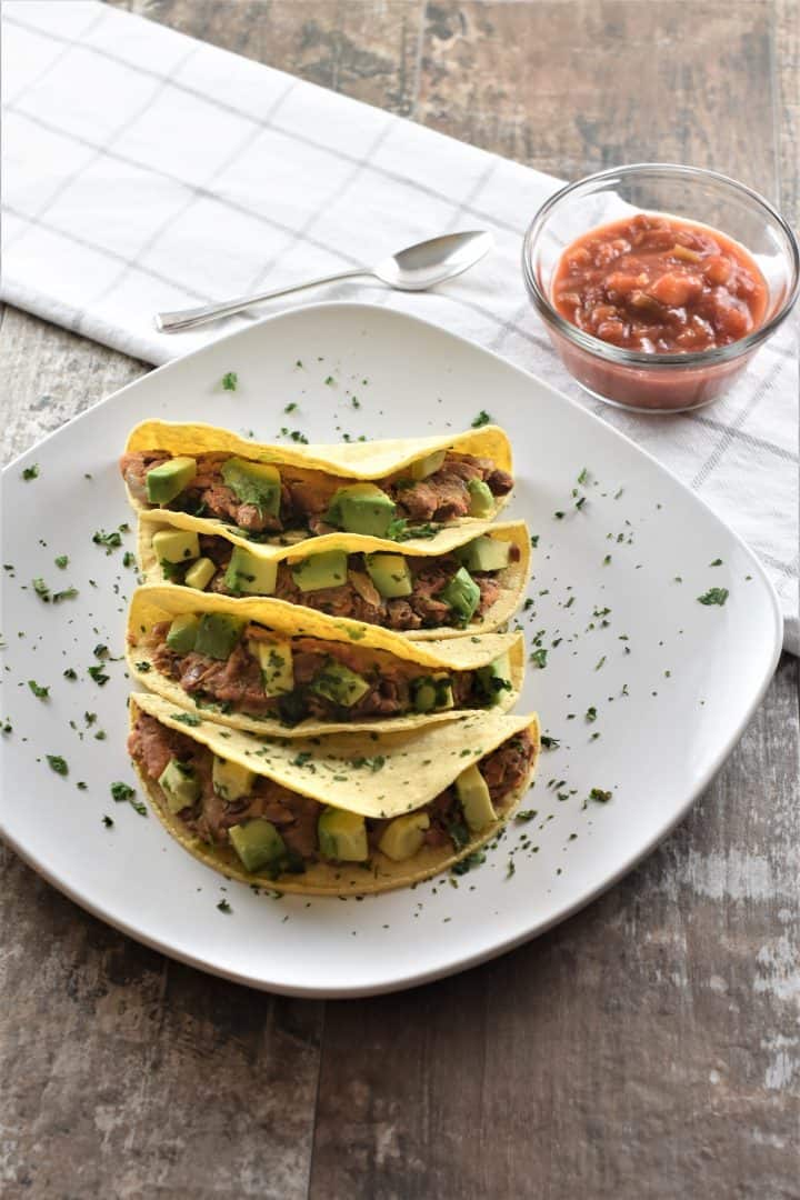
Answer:
<path fill-rule="evenodd" d="M 730 238 L 646 214 L 578 238 L 552 284 L 561 317 L 613 346 L 649 354 L 736 342 L 760 325 L 766 300 L 764 276 Z"/>

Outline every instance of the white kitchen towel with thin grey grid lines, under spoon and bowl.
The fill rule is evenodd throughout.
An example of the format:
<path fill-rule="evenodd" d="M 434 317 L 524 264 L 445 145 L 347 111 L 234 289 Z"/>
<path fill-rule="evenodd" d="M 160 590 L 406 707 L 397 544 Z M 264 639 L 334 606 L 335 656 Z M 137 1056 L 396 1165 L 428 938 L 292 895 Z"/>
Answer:
<path fill-rule="evenodd" d="M 387 304 L 563 389 L 750 542 L 800 650 L 796 325 L 696 415 L 612 410 L 572 383 L 523 289 L 521 239 L 558 180 L 96 0 L 6 0 L 2 16 L 4 300 L 161 364 L 252 318 L 168 336 L 158 310 L 492 229 L 497 250 L 437 292 L 355 280 L 261 312 Z"/>

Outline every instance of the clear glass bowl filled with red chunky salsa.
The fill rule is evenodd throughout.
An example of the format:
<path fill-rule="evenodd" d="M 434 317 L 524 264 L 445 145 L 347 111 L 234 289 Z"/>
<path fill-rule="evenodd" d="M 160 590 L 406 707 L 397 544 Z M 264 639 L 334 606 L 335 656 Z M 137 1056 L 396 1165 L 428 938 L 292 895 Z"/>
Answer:
<path fill-rule="evenodd" d="M 789 314 L 800 251 L 757 192 L 640 163 L 557 192 L 523 246 L 534 307 L 575 379 L 621 408 L 715 400 Z"/>

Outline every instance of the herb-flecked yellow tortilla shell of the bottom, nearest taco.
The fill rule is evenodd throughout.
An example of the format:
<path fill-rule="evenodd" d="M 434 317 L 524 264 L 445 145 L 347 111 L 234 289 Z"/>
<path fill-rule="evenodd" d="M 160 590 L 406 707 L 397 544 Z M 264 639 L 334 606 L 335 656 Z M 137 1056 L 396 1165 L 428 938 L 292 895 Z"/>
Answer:
<path fill-rule="evenodd" d="M 133 725 L 138 712 L 155 716 L 169 728 L 187 734 L 213 754 L 266 775 L 291 791 L 321 804 L 359 812 L 365 817 L 393 817 L 423 808 L 449 787 L 457 775 L 480 762 L 503 742 L 528 730 L 534 743 L 534 760 L 525 784 L 515 791 L 498 820 L 474 834 L 459 851 L 452 846 L 423 846 L 411 858 L 396 863 L 375 851 L 369 868 L 354 864 L 315 863 L 302 876 L 283 875 L 271 880 L 245 870 L 231 847 L 215 847 L 196 836 L 163 805 L 161 788 L 137 766 L 144 792 L 164 828 L 194 858 L 228 878 L 277 892 L 301 895 L 366 895 L 408 887 L 429 878 L 467 858 L 500 832 L 519 804 L 536 770 L 540 726 L 535 714 L 501 715 L 497 709 L 428 725 L 423 730 L 383 734 L 378 742 L 366 732 L 326 737 L 309 742 L 257 738 L 240 731 L 225 731 L 216 721 L 186 724 L 186 714 L 168 701 L 151 695 L 131 696 Z M 300 751 L 300 752 L 299 752 Z M 353 760 L 380 755 L 378 770 L 355 768 Z M 345 774 L 347 773 L 347 774 Z"/>

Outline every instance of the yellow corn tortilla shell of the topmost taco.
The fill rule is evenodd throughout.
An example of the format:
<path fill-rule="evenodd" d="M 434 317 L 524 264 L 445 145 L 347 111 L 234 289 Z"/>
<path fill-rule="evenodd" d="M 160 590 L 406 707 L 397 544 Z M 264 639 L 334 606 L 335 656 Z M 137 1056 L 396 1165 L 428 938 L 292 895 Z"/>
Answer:
<path fill-rule="evenodd" d="M 148 420 L 128 436 L 127 452 L 166 450 L 172 455 L 198 455 L 224 451 L 254 462 L 285 463 L 324 470 L 348 479 L 383 479 L 423 458 L 434 450 L 455 450 L 480 458 L 491 458 L 501 470 L 512 470 L 511 443 L 497 425 L 485 425 L 465 433 L 434 434 L 428 438 L 390 438 L 381 442 L 336 442 L 331 445 L 271 445 L 249 442 L 216 425 Z M 133 502 L 132 502 L 133 503 Z M 498 500 L 498 504 L 501 499 Z M 134 503 L 134 508 L 140 508 Z"/>

